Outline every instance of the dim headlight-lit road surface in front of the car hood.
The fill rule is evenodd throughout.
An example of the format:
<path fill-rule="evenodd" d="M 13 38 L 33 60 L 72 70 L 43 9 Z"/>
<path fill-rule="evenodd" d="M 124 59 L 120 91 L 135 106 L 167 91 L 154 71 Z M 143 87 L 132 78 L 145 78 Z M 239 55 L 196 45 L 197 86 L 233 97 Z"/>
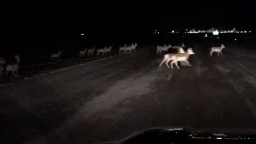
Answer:
<path fill-rule="evenodd" d="M 158 68 L 155 49 L 0 87 L 1 143 L 95 143 L 156 126 L 256 128 L 255 54 L 195 45 L 192 67 Z"/>

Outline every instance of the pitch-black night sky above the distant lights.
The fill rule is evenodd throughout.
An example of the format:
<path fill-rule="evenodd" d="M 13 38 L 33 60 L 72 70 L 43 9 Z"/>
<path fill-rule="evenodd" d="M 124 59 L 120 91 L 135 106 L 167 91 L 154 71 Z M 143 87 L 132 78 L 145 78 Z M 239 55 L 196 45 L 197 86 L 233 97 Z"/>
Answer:
<path fill-rule="evenodd" d="M 254 9 L 252 1 L 20 1 L 1 5 L 1 39 L 148 34 L 154 29 L 221 26 L 253 30 Z"/>

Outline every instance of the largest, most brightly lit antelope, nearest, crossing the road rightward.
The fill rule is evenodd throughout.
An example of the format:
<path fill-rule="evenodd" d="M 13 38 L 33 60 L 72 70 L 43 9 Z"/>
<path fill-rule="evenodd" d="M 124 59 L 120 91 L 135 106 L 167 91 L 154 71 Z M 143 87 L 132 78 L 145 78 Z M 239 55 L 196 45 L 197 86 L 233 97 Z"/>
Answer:
<path fill-rule="evenodd" d="M 172 60 L 171 62 L 171 68 L 173 69 L 173 63 L 175 63 L 175 65 L 177 66 L 178 69 L 180 69 L 180 67 L 178 66 L 178 61 L 183 61 L 185 63 L 189 63 L 188 62 L 188 58 L 191 54 L 195 54 L 192 50 L 192 48 L 188 48 L 186 53 L 171 53 L 171 54 L 165 54 L 164 55 L 164 59 L 163 61 L 160 63 L 159 67 L 161 67 L 163 65 L 163 63 L 165 62 L 166 66 L 168 68 L 170 68 L 170 66 L 168 65 L 168 62 Z"/>

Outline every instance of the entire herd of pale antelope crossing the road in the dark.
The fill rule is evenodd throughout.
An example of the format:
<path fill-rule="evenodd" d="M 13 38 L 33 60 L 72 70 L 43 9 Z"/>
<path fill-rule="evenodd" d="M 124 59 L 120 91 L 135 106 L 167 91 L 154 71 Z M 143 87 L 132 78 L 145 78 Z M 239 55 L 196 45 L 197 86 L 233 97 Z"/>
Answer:
<path fill-rule="evenodd" d="M 131 44 L 131 45 L 126 45 L 124 44 L 124 46 L 120 46 L 119 47 L 119 54 L 121 53 L 133 53 L 136 52 L 136 47 L 138 46 L 137 43 Z M 161 67 L 163 65 L 163 63 L 165 62 L 166 66 L 170 68 L 170 66 L 168 65 L 168 63 L 171 61 L 171 68 L 173 68 L 173 63 L 175 64 L 175 66 L 177 68 L 180 68 L 178 66 L 178 61 L 181 63 L 181 66 L 191 66 L 188 58 L 191 54 L 195 54 L 192 48 L 188 48 L 187 51 L 185 52 L 185 50 L 183 49 L 185 46 L 185 44 L 181 44 L 181 46 L 171 46 L 171 44 L 169 45 L 164 45 L 164 46 L 157 46 L 156 47 L 156 53 L 157 54 L 162 54 L 162 52 L 167 53 L 167 51 L 172 48 L 172 49 L 176 49 L 177 53 L 168 53 L 168 54 L 164 54 L 164 59 L 163 61 L 160 63 L 159 67 Z M 220 47 L 211 47 L 211 52 L 210 55 L 212 56 L 213 52 L 217 52 L 218 53 L 218 57 L 219 57 L 219 53 L 222 55 L 221 51 L 222 49 L 224 49 L 225 46 L 223 44 L 221 44 Z M 97 49 L 97 56 L 98 55 L 105 55 L 105 54 L 110 54 L 111 53 L 111 49 L 112 46 L 109 47 L 104 47 L 103 49 Z M 94 51 L 95 51 L 95 47 L 93 47 L 92 49 L 84 49 L 82 51 L 79 51 L 79 56 L 82 57 L 86 54 L 87 55 L 94 55 Z M 59 59 L 61 54 L 61 51 L 59 51 L 58 53 L 53 53 L 51 54 L 51 59 L 55 60 L 55 59 Z M 9 73 L 11 73 L 13 76 L 18 77 L 19 73 L 18 73 L 18 69 L 19 69 L 19 62 L 20 62 L 20 57 L 19 55 L 14 55 L 15 58 L 15 62 L 14 63 L 7 63 L 5 62 L 4 58 L 0 58 L 0 78 L 2 77 L 6 77 L 8 76 Z"/>

